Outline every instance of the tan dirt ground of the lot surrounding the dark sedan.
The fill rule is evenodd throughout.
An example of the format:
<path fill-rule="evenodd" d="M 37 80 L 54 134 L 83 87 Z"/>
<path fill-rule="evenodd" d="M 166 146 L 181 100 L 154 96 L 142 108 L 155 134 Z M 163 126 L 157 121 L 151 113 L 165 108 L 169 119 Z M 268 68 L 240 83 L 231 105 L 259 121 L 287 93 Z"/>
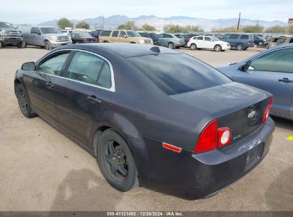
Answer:
<path fill-rule="evenodd" d="M 240 61 L 262 49 L 190 51 L 208 64 Z M 264 161 L 212 198 L 185 201 L 108 185 L 96 159 L 41 118 L 27 119 L 14 95 L 14 73 L 46 50 L 0 49 L 0 211 L 293 211 L 293 122 L 274 118 Z"/>

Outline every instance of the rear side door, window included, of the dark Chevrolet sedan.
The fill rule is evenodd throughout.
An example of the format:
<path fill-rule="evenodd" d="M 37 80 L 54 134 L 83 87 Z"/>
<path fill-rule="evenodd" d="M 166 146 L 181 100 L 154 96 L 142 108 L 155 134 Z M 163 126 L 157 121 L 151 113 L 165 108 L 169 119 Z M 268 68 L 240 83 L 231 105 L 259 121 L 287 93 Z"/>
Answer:
<path fill-rule="evenodd" d="M 114 91 L 110 62 L 88 51 L 75 51 L 56 87 L 56 110 L 61 126 L 86 143 Z"/>

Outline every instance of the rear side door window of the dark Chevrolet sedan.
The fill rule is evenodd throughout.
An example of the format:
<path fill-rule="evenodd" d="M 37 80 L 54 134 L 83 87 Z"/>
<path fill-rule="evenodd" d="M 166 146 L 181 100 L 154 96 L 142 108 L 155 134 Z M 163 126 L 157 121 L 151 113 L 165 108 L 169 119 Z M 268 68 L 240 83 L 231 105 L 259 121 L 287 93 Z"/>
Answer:
<path fill-rule="evenodd" d="M 110 66 L 99 56 L 77 51 L 66 74 L 68 79 L 96 84 L 105 88 L 111 86 Z"/>

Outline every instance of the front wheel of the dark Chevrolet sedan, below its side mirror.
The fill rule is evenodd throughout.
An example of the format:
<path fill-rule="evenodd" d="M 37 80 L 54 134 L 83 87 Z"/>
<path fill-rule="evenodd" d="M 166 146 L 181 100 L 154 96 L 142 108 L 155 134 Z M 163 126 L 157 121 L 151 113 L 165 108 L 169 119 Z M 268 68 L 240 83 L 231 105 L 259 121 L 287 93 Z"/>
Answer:
<path fill-rule="evenodd" d="M 21 113 L 23 113 L 26 118 L 33 118 L 36 116 L 36 113 L 31 109 L 28 96 L 26 96 L 26 91 L 21 84 L 16 86 L 16 96 L 17 101 L 19 101 L 19 109 L 21 109 Z"/>

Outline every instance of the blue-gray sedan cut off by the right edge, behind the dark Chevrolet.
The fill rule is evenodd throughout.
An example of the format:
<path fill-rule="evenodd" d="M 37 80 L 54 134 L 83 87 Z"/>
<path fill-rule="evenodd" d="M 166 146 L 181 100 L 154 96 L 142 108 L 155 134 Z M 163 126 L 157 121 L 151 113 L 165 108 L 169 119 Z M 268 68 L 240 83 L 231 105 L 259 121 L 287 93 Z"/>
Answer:
<path fill-rule="evenodd" d="M 274 46 L 218 70 L 235 81 L 269 91 L 274 95 L 271 114 L 293 120 L 293 44 Z"/>

